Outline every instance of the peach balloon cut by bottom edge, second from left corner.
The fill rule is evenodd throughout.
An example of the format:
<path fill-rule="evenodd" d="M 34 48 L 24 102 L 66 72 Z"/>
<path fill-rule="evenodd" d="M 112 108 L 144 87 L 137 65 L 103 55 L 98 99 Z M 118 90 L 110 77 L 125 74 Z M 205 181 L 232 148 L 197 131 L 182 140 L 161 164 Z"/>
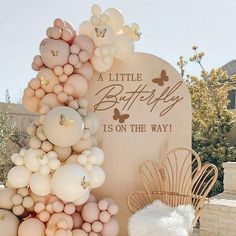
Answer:
<path fill-rule="evenodd" d="M 38 219 L 24 220 L 18 229 L 18 236 L 45 236 L 45 225 Z"/>

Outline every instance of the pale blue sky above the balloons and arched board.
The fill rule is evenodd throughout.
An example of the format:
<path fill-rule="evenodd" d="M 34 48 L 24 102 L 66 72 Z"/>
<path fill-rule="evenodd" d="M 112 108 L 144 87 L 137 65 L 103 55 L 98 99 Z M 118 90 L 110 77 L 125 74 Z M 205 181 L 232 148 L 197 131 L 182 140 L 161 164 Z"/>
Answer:
<path fill-rule="evenodd" d="M 174 67 L 180 55 L 189 58 L 192 45 L 206 56 L 206 69 L 236 59 L 235 0 L 0 0 L 0 101 L 9 90 L 19 102 L 28 81 L 36 75 L 32 58 L 55 18 L 70 21 L 78 28 L 90 18 L 90 8 L 119 8 L 125 23 L 137 22 L 142 38 L 135 50 L 154 54 Z M 187 73 L 198 75 L 197 64 Z"/>

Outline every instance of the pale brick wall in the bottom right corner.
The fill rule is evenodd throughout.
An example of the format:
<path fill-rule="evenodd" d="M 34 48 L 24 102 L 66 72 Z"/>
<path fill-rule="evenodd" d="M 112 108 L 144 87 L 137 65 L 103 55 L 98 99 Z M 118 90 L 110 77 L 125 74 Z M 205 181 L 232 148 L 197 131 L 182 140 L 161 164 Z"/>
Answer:
<path fill-rule="evenodd" d="M 200 218 L 200 236 L 236 235 L 236 163 L 224 167 L 224 192 L 210 200 Z"/>

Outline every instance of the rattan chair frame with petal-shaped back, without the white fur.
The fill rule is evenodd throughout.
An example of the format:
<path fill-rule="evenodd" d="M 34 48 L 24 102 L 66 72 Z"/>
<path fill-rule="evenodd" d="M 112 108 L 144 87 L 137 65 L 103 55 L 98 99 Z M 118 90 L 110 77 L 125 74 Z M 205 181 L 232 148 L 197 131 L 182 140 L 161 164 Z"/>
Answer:
<path fill-rule="evenodd" d="M 208 193 L 218 177 L 218 169 L 210 163 L 201 164 L 196 152 L 178 147 L 169 151 L 160 164 L 145 161 L 139 168 L 139 176 L 145 191 L 128 195 L 128 207 L 132 213 L 161 200 L 167 205 L 191 204 L 195 209 L 195 226 L 202 211 L 209 204 Z"/>

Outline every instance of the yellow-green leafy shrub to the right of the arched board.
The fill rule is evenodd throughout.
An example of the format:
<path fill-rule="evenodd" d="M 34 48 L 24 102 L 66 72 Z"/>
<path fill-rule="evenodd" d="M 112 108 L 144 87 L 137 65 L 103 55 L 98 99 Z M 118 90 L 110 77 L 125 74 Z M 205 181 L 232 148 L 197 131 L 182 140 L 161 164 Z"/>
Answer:
<path fill-rule="evenodd" d="M 193 46 L 194 55 L 189 59 L 201 67 L 200 76 L 186 75 L 188 64 L 180 57 L 177 65 L 185 78 L 192 98 L 192 146 L 201 156 L 203 162 L 217 166 L 219 176 L 210 195 L 223 191 L 222 163 L 235 161 L 234 149 L 231 147 L 227 134 L 236 121 L 235 115 L 227 109 L 228 92 L 232 89 L 234 77 L 228 78 L 227 72 L 221 68 L 207 72 L 203 65 L 203 52 Z"/>

